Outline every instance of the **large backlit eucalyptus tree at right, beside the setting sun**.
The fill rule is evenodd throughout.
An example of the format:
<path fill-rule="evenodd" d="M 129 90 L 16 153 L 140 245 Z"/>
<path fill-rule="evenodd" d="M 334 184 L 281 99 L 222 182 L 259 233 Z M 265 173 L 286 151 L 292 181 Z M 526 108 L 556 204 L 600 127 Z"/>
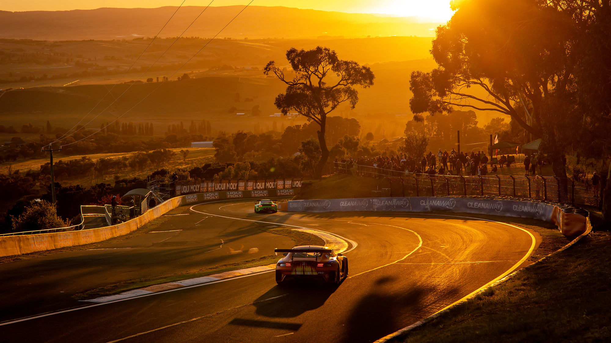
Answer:
<path fill-rule="evenodd" d="M 414 71 L 415 119 L 456 108 L 508 115 L 533 139 L 543 138 L 556 176 L 581 123 L 574 71 L 583 51 L 571 16 L 536 1 L 452 2 L 452 19 L 437 27 L 431 54 L 439 65 Z"/>

